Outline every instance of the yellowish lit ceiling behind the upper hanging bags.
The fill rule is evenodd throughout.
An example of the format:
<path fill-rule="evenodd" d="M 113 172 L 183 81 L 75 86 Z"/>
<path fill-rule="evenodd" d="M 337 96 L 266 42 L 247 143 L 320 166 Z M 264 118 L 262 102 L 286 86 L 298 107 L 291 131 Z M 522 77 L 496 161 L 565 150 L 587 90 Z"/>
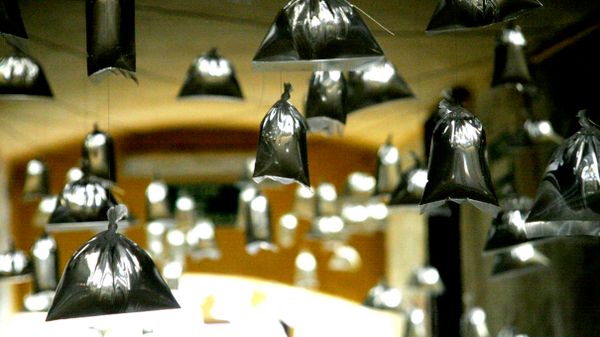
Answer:
<path fill-rule="evenodd" d="M 578 20 L 585 0 L 542 0 L 544 7 L 518 23 L 530 47 Z M 98 84 L 86 76 L 85 1 L 21 0 L 29 53 L 43 66 L 54 100 L 0 100 L 0 156 L 33 156 L 89 132 L 94 122 L 113 134 L 162 128 L 258 128 L 279 98 L 283 82 L 294 86 L 292 103 L 303 106 L 308 72 L 253 72 L 251 60 L 285 1 L 137 0 L 136 53 L 139 84 L 111 76 Z M 424 29 L 435 0 L 353 2 L 392 30 L 365 18 L 390 59 L 416 94 L 349 116 L 345 139 L 378 146 L 388 134 L 403 148 L 420 151 L 423 120 L 442 89 L 456 83 L 488 90 L 495 25 L 428 36 Z M 236 66 L 244 102 L 177 101 L 195 56 L 218 47 Z M 0 42 L 0 52 L 10 50 Z"/>

